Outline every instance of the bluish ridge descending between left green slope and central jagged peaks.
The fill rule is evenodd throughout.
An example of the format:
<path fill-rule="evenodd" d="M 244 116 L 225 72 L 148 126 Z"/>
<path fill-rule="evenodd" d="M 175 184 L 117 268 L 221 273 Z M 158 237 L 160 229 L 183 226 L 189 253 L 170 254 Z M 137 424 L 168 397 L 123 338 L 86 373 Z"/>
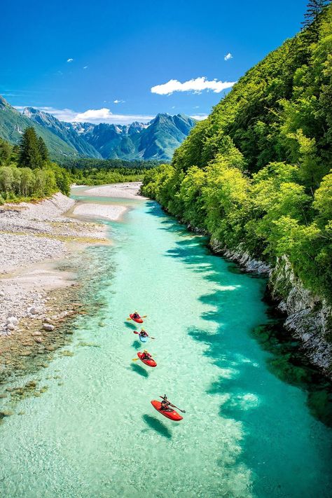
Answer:
<path fill-rule="evenodd" d="M 81 137 L 80 134 L 73 130 L 69 123 L 63 123 L 52 114 L 39 111 L 33 107 L 25 107 L 23 116 L 31 119 L 34 123 L 50 130 L 66 142 L 69 146 L 76 149 L 79 155 L 88 155 L 90 158 L 102 158 L 102 155 L 96 151 L 95 147 Z"/>

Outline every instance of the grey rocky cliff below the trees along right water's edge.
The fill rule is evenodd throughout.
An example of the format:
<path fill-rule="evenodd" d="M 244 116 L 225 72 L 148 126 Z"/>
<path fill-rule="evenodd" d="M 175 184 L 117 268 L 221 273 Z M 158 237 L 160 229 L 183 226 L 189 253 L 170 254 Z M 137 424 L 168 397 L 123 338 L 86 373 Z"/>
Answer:
<path fill-rule="evenodd" d="M 238 247 L 230 251 L 221 247 L 216 240 L 210 246 L 217 254 L 236 261 L 248 272 L 268 276 L 268 289 L 277 308 L 286 314 L 284 327 L 302 343 L 303 352 L 312 364 L 332 378 L 332 309 L 326 300 L 305 289 L 291 268 L 286 256 L 277 259 L 275 268 L 258 261 Z"/>

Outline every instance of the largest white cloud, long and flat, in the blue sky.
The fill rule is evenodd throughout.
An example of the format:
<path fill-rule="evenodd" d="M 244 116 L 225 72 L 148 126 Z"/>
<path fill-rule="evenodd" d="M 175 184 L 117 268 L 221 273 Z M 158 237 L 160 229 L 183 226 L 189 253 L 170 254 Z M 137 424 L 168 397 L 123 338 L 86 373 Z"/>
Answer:
<path fill-rule="evenodd" d="M 235 81 L 218 81 L 216 79 L 209 81 L 205 76 L 195 78 L 189 81 L 170 80 L 162 85 L 155 85 L 151 88 L 152 93 L 158 95 L 171 95 L 173 92 L 194 92 L 200 93 L 202 90 L 212 90 L 212 92 L 220 93 L 226 88 L 231 88 Z"/>

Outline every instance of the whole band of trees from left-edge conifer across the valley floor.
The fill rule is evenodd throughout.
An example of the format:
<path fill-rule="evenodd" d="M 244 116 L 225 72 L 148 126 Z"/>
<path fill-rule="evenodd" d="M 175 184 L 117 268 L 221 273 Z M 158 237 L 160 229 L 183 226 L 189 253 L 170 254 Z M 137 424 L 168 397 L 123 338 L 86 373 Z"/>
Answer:
<path fill-rule="evenodd" d="M 34 127 L 27 127 L 20 146 L 0 138 L 0 204 L 49 197 L 60 191 L 69 195 L 70 184 L 113 184 L 141 181 L 160 162 L 68 159 L 62 165 L 50 160 L 45 141 Z"/>

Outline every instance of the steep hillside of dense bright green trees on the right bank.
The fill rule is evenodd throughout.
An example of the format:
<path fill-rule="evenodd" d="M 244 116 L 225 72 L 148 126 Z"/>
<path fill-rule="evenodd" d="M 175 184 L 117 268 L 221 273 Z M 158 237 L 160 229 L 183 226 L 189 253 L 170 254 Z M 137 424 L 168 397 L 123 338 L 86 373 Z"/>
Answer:
<path fill-rule="evenodd" d="M 250 69 L 143 192 L 221 247 L 275 265 L 332 300 L 332 6 Z M 309 18 L 309 19 L 308 19 Z"/>

